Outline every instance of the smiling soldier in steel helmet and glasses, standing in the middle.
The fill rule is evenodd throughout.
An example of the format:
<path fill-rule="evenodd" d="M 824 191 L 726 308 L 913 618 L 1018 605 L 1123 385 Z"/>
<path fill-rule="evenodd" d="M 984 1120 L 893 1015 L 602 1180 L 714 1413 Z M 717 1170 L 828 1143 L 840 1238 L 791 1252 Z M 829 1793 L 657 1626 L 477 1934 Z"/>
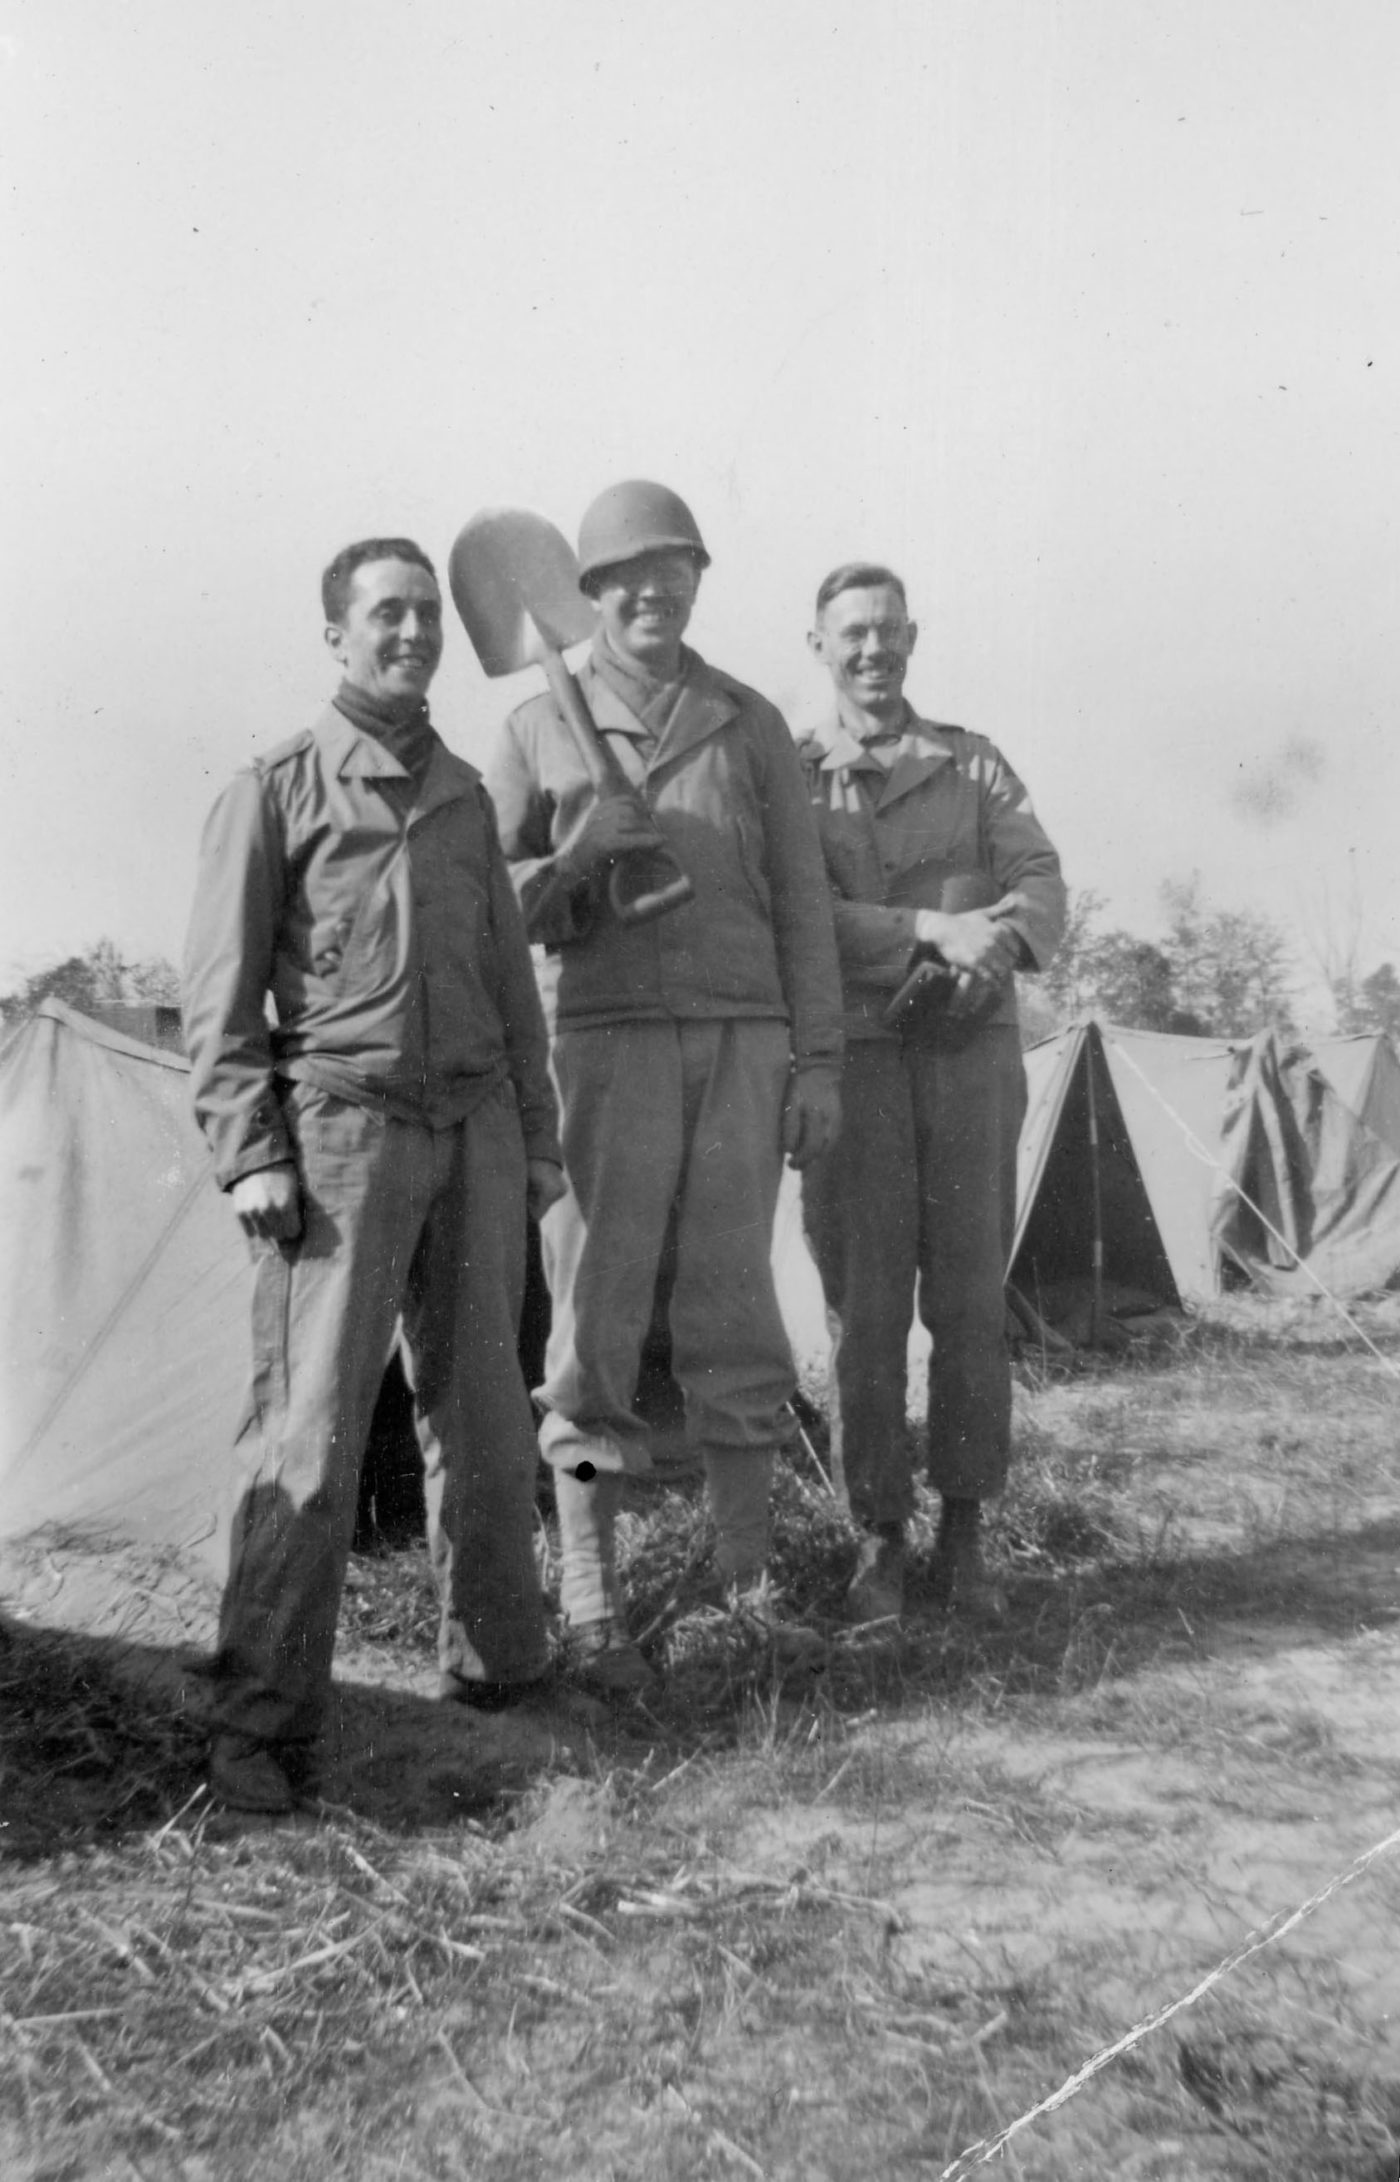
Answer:
<path fill-rule="evenodd" d="M 600 792 L 552 696 L 502 731 L 488 786 L 554 1034 L 569 1189 L 541 1222 L 552 1294 L 541 1449 L 554 1471 L 576 1671 L 645 1687 L 615 1564 L 624 1475 L 652 1466 L 632 1414 L 663 1252 L 672 1370 L 702 1460 L 715 1558 L 779 1656 L 811 1658 L 765 1578 L 792 1353 L 770 1244 L 783 1154 L 837 1128 L 840 973 L 792 735 L 683 639 L 709 552 L 687 504 L 628 480 L 578 537 L 598 633 L 578 683 L 608 753 Z M 665 844 L 691 899 L 628 923 L 608 875 Z"/>

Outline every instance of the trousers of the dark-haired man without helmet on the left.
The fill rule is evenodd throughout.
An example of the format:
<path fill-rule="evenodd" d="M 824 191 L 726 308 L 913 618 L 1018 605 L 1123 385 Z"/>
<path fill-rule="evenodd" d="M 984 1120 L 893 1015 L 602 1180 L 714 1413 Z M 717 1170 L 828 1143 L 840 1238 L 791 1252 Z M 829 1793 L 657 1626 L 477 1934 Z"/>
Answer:
<path fill-rule="evenodd" d="M 440 1595 L 464 1680 L 547 1663 L 534 1420 L 517 1362 L 526 1150 L 510 1087 L 449 1128 L 281 1087 L 303 1231 L 255 1246 L 253 1386 L 214 1663 L 214 1722 L 307 1741 L 329 1695 L 360 1464 L 395 1333 L 414 1390 Z"/>

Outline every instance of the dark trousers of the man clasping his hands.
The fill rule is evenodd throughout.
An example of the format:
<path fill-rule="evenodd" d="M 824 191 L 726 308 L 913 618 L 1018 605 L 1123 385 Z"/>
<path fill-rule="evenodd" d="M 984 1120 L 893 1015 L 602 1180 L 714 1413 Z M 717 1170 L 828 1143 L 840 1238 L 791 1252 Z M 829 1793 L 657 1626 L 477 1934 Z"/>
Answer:
<path fill-rule="evenodd" d="M 850 1514 L 898 1523 L 914 1512 L 914 1309 L 933 1340 L 929 1482 L 955 1499 L 986 1499 L 1005 1484 L 1003 1290 L 1025 1115 L 1018 1032 L 988 1026 L 962 1052 L 857 1039 L 846 1047 L 842 1113 L 837 1143 L 802 1174 L 802 1224 L 831 1333 L 831 1451 Z"/>

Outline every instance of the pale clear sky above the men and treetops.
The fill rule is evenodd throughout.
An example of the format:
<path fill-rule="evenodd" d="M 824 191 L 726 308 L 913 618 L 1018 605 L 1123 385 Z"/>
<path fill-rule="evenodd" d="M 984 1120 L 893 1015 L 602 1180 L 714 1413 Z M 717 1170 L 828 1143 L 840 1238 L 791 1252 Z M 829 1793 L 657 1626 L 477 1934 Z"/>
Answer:
<path fill-rule="evenodd" d="M 0 0 L 0 986 L 179 956 L 340 543 L 626 476 L 794 724 L 888 561 L 1110 923 L 1400 962 L 1398 142 L 1393 0 Z"/>

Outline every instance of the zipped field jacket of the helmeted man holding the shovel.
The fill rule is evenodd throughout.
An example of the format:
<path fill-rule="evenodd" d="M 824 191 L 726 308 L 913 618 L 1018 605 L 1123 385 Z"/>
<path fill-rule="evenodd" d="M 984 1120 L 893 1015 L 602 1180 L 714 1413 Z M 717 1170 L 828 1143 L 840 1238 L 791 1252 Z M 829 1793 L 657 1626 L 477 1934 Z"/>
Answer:
<path fill-rule="evenodd" d="M 661 740 L 584 659 L 589 711 L 689 875 L 693 901 L 619 925 L 606 875 L 578 884 L 558 851 L 595 801 L 574 729 L 554 698 L 506 720 L 486 783 L 558 1030 L 674 1017 L 792 1026 L 796 1067 L 835 1067 L 842 1002 L 831 899 L 807 788 L 783 716 L 755 690 L 685 652 Z M 650 753 L 650 755 L 648 755 Z"/>

